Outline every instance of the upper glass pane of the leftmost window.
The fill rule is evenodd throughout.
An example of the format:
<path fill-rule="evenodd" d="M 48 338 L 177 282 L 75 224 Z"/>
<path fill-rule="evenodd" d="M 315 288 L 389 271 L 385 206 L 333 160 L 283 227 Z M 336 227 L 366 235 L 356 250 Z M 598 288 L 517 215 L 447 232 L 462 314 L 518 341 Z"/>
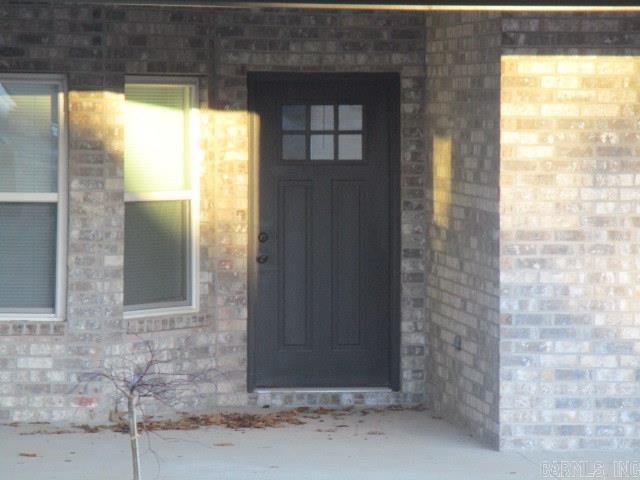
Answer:
<path fill-rule="evenodd" d="M 58 190 L 58 86 L 0 83 L 0 192 Z"/>

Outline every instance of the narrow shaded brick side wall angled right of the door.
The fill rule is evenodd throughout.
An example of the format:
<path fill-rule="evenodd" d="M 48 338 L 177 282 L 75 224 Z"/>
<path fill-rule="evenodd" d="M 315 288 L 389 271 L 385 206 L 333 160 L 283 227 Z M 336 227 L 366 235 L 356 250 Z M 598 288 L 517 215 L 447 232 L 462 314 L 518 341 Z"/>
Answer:
<path fill-rule="evenodd" d="M 498 443 L 500 16 L 427 19 L 427 370 L 436 412 Z"/>

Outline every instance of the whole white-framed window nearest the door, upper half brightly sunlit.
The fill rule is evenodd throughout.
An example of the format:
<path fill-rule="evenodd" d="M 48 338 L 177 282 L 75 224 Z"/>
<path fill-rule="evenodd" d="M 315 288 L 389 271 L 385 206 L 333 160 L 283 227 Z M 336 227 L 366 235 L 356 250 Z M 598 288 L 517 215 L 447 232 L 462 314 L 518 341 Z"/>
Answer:
<path fill-rule="evenodd" d="M 197 309 L 196 84 L 127 79 L 124 306 L 127 316 Z"/>

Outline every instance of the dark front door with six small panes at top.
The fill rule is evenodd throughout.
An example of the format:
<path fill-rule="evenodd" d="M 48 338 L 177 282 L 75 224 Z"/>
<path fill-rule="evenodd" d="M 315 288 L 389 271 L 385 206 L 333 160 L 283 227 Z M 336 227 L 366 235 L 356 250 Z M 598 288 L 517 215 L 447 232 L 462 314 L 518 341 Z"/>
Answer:
<path fill-rule="evenodd" d="M 392 84 L 251 78 L 251 388 L 392 386 Z"/>

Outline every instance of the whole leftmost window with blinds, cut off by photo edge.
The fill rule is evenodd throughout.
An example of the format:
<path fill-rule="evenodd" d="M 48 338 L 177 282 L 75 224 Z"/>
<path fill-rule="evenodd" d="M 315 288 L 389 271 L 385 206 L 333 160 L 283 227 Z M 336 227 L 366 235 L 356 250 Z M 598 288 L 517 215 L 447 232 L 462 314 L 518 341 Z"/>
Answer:
<path fill-rule="evenodd" d="M 64 80 L 0 75 L 0 319 L 65 308 Z"/>

